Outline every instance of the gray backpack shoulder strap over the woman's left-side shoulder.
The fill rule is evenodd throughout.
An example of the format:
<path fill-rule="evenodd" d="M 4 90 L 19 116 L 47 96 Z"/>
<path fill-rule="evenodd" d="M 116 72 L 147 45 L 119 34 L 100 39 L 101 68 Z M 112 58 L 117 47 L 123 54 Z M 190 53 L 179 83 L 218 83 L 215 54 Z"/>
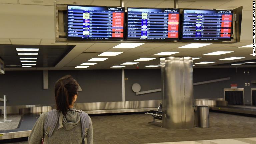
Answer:
<path fill-rule="evenodd" d="M 56 109 L 49 111 L 46 123 L 44 125 L 44 141 L 47 142 L 48 137 L 52 136 L 52 133 L 56 127 L 57 121 L 59 119 L 60 112 Z"/>

